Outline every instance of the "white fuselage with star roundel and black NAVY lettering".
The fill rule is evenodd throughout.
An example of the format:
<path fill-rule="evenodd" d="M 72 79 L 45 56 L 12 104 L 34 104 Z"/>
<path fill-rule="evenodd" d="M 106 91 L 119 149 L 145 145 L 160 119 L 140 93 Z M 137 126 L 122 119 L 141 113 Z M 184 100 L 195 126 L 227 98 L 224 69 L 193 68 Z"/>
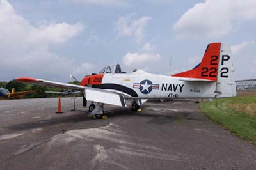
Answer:
<path fill-rule="evenodd" d="M 182 81 L 182 77 L 156 75 L 142 70 L 133 73 L 105 73 L 102 84 L 124 86 L 122 93 L 130 98 L 214 98 L 216 82 Z M 132 89 L 136 95 L 125 92 Z M 110 91 L 118 91 L 108 89 Z"/>

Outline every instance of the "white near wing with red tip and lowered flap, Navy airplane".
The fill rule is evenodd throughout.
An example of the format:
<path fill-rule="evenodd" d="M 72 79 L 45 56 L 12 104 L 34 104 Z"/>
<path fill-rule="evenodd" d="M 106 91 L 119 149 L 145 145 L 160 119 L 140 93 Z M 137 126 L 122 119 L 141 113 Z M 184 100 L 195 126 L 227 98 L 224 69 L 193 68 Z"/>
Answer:
<path fill-rule="evenodd" d="M 33 77 L 19 77 L 16 79 L 19 82 L 36 84 L 40 86 L 52 86 L 63 89 L 75 89 L 79 91 L 85 91 L 86 100 L 93 102 L 100 102 L 104 104 L 118 105 L 126 107 L 125 97 L 121 93 L 108 91 L 106 89 L 91 88 L 88 86 L 79 86 L 75 84 L 68 84 L 62 82 L 47 81 L 43 79 L 35 79 Z"/>

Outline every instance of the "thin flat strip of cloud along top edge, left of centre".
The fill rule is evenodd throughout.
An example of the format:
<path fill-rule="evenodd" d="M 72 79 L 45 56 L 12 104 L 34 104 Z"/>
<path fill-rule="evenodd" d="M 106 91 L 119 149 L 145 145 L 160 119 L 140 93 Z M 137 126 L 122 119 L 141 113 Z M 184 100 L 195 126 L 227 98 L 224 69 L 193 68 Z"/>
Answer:
<path fill-rule="evenodd" d="M 67 0 L 72 1 L 76 4 L 84 5 L 97 5 L 97 6 L 113 6 L 113 7 L 122 7 L 127 6 L 127 3 L 123 0 Z"/>

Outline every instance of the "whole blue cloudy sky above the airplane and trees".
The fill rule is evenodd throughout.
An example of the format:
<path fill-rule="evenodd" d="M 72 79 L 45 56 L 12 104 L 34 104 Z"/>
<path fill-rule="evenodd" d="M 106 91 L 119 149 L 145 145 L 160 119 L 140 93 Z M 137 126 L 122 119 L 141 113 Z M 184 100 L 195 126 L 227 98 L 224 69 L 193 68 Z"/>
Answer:
<path fill-rule="evenodd" d="M 190 70 L 229 42 L 236 79 L 256 79 L 255 0 L 0 0 L 0 81 L 69 82 L 120 63 Z"/>

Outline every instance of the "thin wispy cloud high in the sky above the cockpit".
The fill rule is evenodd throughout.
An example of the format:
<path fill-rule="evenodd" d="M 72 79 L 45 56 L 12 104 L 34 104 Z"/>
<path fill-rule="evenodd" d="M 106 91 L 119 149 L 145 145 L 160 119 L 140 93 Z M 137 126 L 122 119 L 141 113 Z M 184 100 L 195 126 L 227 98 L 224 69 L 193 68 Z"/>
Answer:
<path fill-rule="evenodd" d="M 121 37 L 132 37 L 136 42 L 141 42 L 142 38 L 145 36 L 145 27 L 150 21 L 150 17 L 144 16 L 139 19 L 134 19 L 136 13 L 131 13 L 119 17 L 118 22 L 115 23 L 117 36 L 116 38 Z"/>

